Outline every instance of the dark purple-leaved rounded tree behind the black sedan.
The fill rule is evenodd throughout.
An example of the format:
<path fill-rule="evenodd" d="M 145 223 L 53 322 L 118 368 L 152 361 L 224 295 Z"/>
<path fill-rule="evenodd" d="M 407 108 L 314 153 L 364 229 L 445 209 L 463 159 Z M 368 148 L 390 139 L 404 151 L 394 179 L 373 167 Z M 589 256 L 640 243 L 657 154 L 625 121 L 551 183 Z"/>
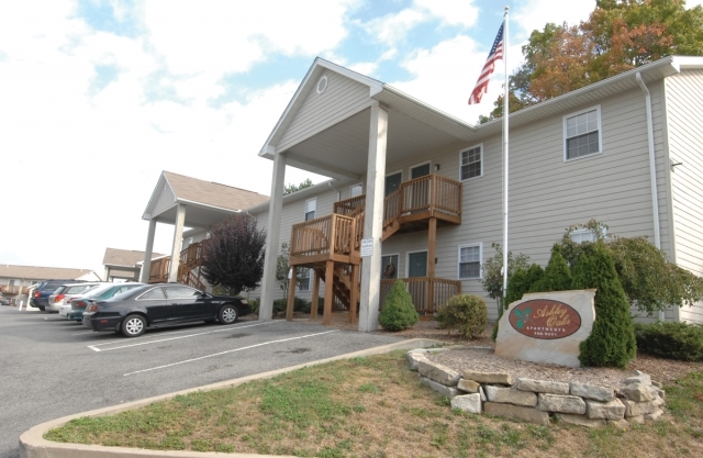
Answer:
<path fill-rule="evenodd" d="M 255 289 L 264 275 L 266 230 L 256 220 L 239 214 L 212 227 L 203 249 L 202 275 L 213 287 L 231 294 Z"/>

